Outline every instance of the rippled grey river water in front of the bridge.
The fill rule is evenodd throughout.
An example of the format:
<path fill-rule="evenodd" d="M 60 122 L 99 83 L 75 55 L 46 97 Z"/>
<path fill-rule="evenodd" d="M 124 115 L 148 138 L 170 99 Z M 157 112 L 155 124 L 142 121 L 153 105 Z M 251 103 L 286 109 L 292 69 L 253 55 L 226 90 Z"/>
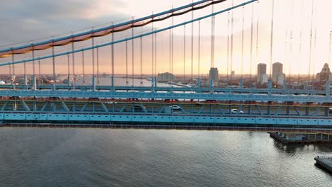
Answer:
<path fill-rule="evenodd" d="M 0 128 L 0 186 L 332 186 L 266 132 Z"/>

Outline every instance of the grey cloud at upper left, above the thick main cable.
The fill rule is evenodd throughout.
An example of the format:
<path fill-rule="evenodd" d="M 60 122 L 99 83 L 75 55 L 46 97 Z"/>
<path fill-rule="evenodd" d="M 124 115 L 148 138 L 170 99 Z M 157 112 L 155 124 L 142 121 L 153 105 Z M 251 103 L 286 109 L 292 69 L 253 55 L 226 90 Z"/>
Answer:
<path fill-rule="evenodd" d="M 1 3 L 0 45 L 49 37 L 123 18 L 120 0 L 12 0 Z M 1 47 L 3 48 L 3 47 Z"/>

